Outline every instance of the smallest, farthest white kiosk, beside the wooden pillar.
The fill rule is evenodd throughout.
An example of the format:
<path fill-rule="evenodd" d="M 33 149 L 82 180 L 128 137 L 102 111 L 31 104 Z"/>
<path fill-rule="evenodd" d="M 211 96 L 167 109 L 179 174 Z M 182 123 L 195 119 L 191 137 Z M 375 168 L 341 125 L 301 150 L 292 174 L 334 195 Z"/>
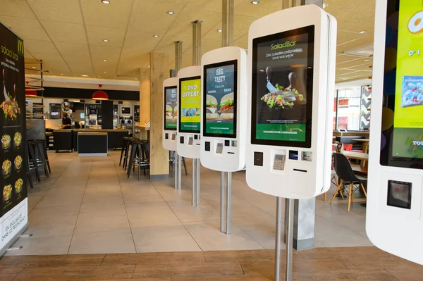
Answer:
<path fill-rule="evenodd" d="M 176 151 L 176 125 L 178 123 L 178 78 L 163 82 L 163 147 Z"/>

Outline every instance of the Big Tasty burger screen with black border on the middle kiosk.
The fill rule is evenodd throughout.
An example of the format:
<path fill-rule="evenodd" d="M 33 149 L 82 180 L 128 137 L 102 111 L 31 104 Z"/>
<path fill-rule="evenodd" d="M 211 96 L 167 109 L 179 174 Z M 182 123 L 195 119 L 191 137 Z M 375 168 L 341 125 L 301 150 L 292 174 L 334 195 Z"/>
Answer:
<path fill-rule="evenodd" d="M 236 137 L 238 61 L 204 65 L 203 132 L 207 137 Z"/>

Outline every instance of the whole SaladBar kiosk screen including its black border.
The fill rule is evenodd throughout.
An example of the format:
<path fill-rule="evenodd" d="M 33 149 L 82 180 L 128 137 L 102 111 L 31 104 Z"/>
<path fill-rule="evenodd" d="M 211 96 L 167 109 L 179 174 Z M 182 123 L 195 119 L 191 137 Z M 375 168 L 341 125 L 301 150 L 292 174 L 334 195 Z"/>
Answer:
<path fill-rule="evenodd" d="M 314 25 L 253 39 L 252 144 L 311 147 Z"/>

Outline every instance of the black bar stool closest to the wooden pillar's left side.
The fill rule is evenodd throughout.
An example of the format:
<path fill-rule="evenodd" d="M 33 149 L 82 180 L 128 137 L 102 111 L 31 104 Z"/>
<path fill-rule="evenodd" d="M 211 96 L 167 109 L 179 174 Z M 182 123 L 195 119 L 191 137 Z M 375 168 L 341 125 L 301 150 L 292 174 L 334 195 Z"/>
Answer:
<path fill-rule="evenodd" d="M 149 142 L 133 140 L 130 149 L 130 158 L 128 163 L 128 178 L 130 177 L 130 170 L 138 166 L 138 180 L 140 180 L 141 168 L 149 169 Z"/>

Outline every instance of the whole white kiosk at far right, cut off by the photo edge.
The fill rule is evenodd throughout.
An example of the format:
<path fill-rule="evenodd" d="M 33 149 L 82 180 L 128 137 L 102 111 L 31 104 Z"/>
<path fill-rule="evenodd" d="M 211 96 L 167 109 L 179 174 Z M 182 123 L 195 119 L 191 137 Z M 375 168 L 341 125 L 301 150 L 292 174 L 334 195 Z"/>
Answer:
<path fill-rule="evenodd" d="M 423 264 L 423 6 L 376 1 L 366 232 Z"/>

